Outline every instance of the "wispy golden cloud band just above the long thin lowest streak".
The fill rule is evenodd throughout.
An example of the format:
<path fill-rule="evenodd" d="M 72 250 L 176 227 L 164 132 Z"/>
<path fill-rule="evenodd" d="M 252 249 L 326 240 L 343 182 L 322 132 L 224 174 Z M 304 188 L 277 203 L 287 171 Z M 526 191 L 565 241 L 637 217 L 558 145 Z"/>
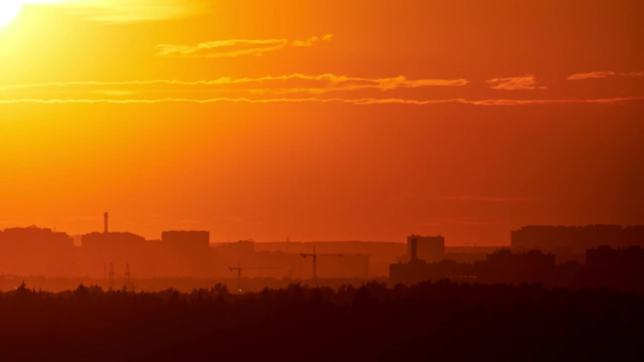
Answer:
<path fill-rule="evenodd" d="M 50 90 L 52 88 L 65 88 L 66 90 L 82 91 L 88 88 L 100 88 L 101 92 L 108 92 L 104 88 L 115 87 L 120 93 L 125 91 L 144 92 L 149 86 L 168 86 L 167 92 L 187 87 L 189 90 L 200 91 L 244 91 L 253 95 L 258 94 L 289 94 L 311 93 L 322 94 L 332 91 L 359 91 L 381 90 L 390 91 L 400 88 L 421 88 L 429 86 L 464 86 L 468 84 L 465 79 L 408 79 L 402 75 L 390 78 L 363 78 L 347 77 L 345 75 L 321 74 L 304 75 L 289 74 L 267 76 L 259 78 L 230 78 L 222 77 L 214 80 L 178 81 L 169 79 L 156 79 L 150 81 L 122 81 L 122 82 L 47 82 L 33 84 L 8 84 L 0 85 L 0 91 L 19 90 Z M 128 89 L 124 89 L 128 88 Z M 155 93 L 160 91 L 155 87 Z"/>

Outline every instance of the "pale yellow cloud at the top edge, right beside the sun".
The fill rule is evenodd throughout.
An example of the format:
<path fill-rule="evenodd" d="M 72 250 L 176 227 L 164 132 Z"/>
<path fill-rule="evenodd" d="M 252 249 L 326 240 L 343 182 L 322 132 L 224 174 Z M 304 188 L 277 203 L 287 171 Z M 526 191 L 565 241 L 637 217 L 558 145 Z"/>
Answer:
<path fill-rule="evenodd" d="M 67 8 L 86 19 L 104 23 L 138 23 L 202 14 L 213 5 L 209 0 L 26 0 Z"/>

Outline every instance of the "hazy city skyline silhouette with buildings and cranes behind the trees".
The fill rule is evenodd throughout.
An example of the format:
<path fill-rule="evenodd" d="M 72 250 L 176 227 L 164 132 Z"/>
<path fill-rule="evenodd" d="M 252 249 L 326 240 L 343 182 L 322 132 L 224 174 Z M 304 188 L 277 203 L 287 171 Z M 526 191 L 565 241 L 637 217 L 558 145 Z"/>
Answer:
<path fill-rule="evenodd" d="M 531 225 L 512 231 L 506 245 L 449 247 L 440 234 L 411 234 L 406 243 L 301 243 L 290 239 L 279 243 L 256 243 L 252 239 L 212 243 L 209 231 L 162 231 L 160 239 L 146 240 L 137 234 L 110 231 L 109 213 L 103 218 L 103 231 L 81 235 L 80 245 L 62 231 L 35 225 L 0 231 L 0 273 L 76 278 L 96 285 L 108 283 L 109 289 L 115 287 L 118 275 L 132 291 L 136 290 L 133 277 L 150 290 L 155 289 L 150 286 L 154 283 L 144 280 L 165 278 L 168 283 L 175 278 L 176 285 L 162 286 L 178 287 L 183 282 L 177 280 L 182 278 L 212 282 L 213 278 L 231 278 L 228 272 L 237 271 L 235 290 L 239 292 L 249 291 L 252 279 L 271 280 L 276 285 L 298 281 L 316 286 L 320 277 L 327 279 L 323 283 L 332 284 L 342 280 L 384 279 L 392 284 L 413 284 L 450 279 L 544 283 L 577 289 L 610 286 L 638 292 L 641 283 L 636 280 L 644 271 L 644 225 Z M 137 271 L 135 275 L 131 266 Z M 115 272 L 122 269 L 124 273 Z M 243 289 L 242 271 L 245 280 L 251 279 Z"/>

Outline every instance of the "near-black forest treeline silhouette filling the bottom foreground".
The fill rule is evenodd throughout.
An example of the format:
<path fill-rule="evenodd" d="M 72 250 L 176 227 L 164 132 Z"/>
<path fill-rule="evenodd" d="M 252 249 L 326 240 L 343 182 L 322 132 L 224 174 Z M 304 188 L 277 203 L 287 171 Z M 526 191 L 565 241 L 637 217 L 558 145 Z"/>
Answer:
<path fill-rule="evenodd" d="M 641 360 L 644 297 L 450 280 L 0 293 L 3 360 Z"/>

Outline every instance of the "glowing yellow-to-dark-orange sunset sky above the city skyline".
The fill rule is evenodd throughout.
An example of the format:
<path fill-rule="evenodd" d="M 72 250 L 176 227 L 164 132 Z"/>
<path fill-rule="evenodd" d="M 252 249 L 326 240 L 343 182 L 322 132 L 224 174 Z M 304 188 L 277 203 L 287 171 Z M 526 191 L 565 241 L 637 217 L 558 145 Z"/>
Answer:
<path fill-rule="evenodd" d="M 0 228 L 644 223 L 641 1 L 27 2 L 0 28 Z"/>

